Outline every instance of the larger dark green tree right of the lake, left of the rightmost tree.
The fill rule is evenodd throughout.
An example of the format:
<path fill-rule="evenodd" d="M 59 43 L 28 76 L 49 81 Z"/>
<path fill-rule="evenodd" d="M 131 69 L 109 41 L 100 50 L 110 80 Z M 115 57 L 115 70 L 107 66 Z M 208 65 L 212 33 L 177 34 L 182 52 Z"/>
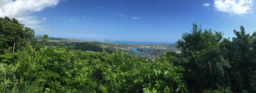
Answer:
<path fill-rule="evenodd" d="M 184 33 L 182 39 L 177 41 L 177 48 L 181 50 L 179 54 L 181 62 L 174 65 L 188 69 L 185 73 L 186 81 L 191 89 L 199 90 L 195 92 L 202 92 L 202 89 L 215 89 L 215 83 L 223 83 L 219 80 L 219 76 L 223 77 L 223 69 L 230 68 L 230 65 L 220 54 L 222 38 L 221 32 L 212 32 L 211 29 L 203 31 L 201 26 L 198 28 L 193 24 L 191 33 Z"/>

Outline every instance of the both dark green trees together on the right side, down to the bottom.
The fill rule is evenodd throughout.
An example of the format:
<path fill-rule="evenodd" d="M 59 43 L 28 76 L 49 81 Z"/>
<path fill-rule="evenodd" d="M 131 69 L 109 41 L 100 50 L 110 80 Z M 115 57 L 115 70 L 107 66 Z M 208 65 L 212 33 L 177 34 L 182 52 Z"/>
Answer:
<path fill-rule="evenodd" d="M 234 30 L 236 37 L 230 41 L 229 38 L 223 39 L 221 32 L 212 32 L 211 29 L 203 32 L 196 24 L 192 30 L 177 41 L 180 54 L 168 52 L 164 56 L 179 58 L 169 61 L 186 68 L 184 75 L 190 90 L 219 89 L 224 92 L 223 88 L 230 88 L 234 92 L 256 91 L 256 32 L 245 34 L 241 26 L 240 31 Z"/>

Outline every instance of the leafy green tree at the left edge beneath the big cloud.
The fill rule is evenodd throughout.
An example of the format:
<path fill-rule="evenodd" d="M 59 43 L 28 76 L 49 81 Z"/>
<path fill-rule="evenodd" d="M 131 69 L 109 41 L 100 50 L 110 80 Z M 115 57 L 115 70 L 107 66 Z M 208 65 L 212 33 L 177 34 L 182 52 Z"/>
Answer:
<path fill-rule="evenodd" d="M 34 30 L 24 27 L 15 18 L 0 18 L 0 54 L 25 47 L 34 38 L 34 33 Z"/>

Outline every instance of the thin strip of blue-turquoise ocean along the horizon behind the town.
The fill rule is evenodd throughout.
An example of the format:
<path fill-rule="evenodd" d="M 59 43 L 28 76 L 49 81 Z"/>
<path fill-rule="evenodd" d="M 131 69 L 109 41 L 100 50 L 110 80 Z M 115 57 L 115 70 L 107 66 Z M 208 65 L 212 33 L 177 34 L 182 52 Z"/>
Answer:
<path fill-rule="evenodd" d="M 104 43 L 114 43 L 114 44 L 144 44 L 144 45 L 173 45 L 175 42 L 138 42 L 138 41 L 103 41 Z"/>

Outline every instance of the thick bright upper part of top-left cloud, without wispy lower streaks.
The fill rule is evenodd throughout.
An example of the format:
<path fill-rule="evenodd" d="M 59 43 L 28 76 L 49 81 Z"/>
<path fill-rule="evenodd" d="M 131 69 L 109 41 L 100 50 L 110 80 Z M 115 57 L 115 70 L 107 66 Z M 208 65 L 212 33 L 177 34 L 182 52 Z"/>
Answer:
<path fill-rule="evenodd" d="M 60 0 L 1 0 L 0 17 L 24 17 L 32 12 L 42 11 L 46 7 L 53 7 Z"/>

